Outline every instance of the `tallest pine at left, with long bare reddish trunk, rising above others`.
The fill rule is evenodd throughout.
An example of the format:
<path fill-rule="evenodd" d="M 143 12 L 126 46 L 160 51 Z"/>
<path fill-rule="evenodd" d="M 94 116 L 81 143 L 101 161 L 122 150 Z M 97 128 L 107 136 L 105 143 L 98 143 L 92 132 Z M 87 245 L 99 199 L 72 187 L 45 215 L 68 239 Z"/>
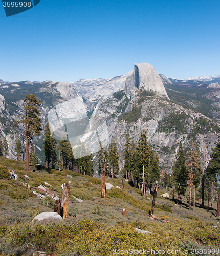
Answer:
<path fill-rule="evenodd" d="M 25 125 L 26 133 L 26 170 L 29 171 L 29 143 L 33 136 L 40 136 L 42 131 L 41 119 L 39 116 L 41 102 L 37 99 L 34 94 L 25 96 L 24 98 L 24 112 L 25 114 L 21 116 L 21 120 L 16 121 L 15 125 L 22 123 Z"/>

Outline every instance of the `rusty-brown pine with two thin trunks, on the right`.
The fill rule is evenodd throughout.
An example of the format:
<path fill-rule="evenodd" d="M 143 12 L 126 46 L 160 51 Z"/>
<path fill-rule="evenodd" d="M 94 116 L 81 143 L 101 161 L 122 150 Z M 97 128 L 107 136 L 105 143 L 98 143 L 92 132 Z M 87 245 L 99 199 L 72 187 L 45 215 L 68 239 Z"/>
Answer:
<path fill-rule="evenodd" d="M 187 151 L 186 165 L 188 167 L 189 210 L 190 210 L 191 189 L 194 188 L 194 202 L 193 202 L 193 209 L 194 209 L 196 188 L 200 185 L 200 180 L 202 178 L 200 155 L 199 155 L 199 152 L 197 152 L 195 144 L 193 142 L 190 143 L 189 151 Z"/>

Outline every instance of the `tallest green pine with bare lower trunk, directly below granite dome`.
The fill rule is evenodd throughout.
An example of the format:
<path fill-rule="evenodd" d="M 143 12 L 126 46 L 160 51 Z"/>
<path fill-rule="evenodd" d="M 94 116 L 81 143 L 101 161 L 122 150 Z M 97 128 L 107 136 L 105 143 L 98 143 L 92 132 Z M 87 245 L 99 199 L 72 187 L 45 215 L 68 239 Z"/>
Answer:
<path fill-rule="evenodd" d="M 141 131 L 139 140 L 138 140 L 138 146 L 137 146 L 137 156 L 138 156 L 138 162 L 140 166 L 140 173 L 142 172 L 142 179 L 143 179 L 143 189 L 142 193 L 145 197 L 145 169 L 147 169 L 150 165 L 150 148 L 147 141 L 147 131 L 143 129 Z"/>

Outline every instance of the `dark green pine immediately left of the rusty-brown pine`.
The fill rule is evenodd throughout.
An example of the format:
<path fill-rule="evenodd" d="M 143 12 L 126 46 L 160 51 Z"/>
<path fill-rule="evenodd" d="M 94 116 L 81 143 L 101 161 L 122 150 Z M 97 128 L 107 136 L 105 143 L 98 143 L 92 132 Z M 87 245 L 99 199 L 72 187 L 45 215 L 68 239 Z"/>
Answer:
<path fill-rule="evenodd" d="M 178 185 L 178 199 L 177 204 L 180 204 L 180 195 L 185 194 L 186 180 L 188 175 L 186 162 L 186 155 L 183 150 L 182 142 L 178 147 L 178 153 L 174 165 L 172 166 L 173 177 L 175 183 Z"/>

